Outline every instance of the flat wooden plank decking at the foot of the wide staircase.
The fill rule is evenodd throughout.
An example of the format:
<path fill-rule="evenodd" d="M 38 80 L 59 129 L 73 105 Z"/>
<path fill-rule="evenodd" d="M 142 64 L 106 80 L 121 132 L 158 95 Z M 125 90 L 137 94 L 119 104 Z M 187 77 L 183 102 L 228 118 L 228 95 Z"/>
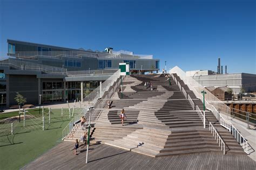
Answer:
<path fill-rule="evenodd" d="M 64 141 L 22 169 L 255 169 L 256 162 L 247 155 L 207 152 L 152 158 L 121 148 L 99 144 L 86 146 L 74 155 L 73 142 Z"/>

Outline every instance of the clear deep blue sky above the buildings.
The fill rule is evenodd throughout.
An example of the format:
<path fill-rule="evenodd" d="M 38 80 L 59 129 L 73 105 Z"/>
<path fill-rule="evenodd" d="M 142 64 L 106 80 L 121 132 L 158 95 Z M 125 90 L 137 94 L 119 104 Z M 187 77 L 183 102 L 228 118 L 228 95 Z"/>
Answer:
<path fill-rule="evenodd" d="M 70 48 L 153 54 L 160 67 L 256 74 L 255 1 L 0 0 L 6 39 Z"/>

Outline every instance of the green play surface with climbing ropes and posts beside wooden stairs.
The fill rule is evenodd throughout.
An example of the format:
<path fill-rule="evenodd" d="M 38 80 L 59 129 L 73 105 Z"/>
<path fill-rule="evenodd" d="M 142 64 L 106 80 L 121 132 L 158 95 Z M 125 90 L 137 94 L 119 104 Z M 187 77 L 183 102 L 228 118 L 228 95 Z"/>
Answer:
<path fill-rule="evenodd" d="M 38 114 L 36 114 L 36 112 Z M 46 110 L 47 112 L 47 110 Z M 75 110 L 75 115 L 80 110 Z M 17 113 L 10 113 L 15 115 Z M 61 109 L 53 109 L 49 124 L 49 115 L 46 113 L 44 131 L 42 130 L 42 115 L 38 110 L 31 110 L 29 114 L 36 117 L 26 118 L 25 127 L 23 119 L 19 123 L 14 123 L 14 134 L 10 133 L 10 123 L 0 124 L 0 169 L 19 169 L 36 159 L 39 155 L 50 150 L 53 146 L 61 142 L 62 131 L 70 122 L 68 111 L 61 115 Z"/>

